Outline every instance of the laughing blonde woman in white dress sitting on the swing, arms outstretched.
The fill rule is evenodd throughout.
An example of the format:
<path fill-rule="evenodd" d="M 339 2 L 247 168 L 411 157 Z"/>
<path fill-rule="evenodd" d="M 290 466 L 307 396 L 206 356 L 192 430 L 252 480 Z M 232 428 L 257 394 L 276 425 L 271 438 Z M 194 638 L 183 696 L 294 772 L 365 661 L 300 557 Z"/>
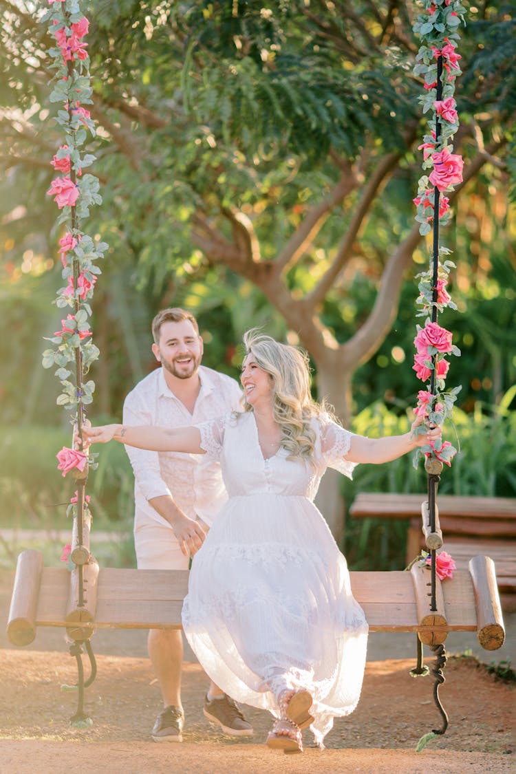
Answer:
<path fill-rule="evenodd" d="M 346 560 L 313 504 L 320 479 L 326 467 L 350 477 L 357 463 L 395 460 L 441 433 L 414 433 L 416 420 L 401 436 L 354 435 L 313 401 L 305 354 L 256 331 L 244 344 L 242 413 L 85 433 L 220 460 L 229 500 L 193 560 L 183 628 L 211 680 L 275 716 L 267 744 L 302 752 L 302 728 L 323 747 L 333 717 L 356 707 L 367 646 Z M 192 533 L 184 547 L 193 555 L 200 543 Z"/>

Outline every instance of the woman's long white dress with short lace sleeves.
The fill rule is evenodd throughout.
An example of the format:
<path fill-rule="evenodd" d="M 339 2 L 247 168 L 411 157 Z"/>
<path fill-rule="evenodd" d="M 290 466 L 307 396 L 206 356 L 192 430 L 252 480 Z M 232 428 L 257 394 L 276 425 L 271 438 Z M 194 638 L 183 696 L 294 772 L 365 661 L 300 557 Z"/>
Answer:
<path fill-rule="evenodd" d="M 313 504 L 326 467 L 351 475 L 351 433 L 324 418 L 313 428 L 312 466 L 283 449 L 265 459 L 253 413 L 199 426 L 229 500 L 193 559 L 183 628 L 207 675 L 237 701 L 277 714 L 282 687 L 306 687 L 322 744 L 333 717 L 357 705 L 367 623 Z"/>

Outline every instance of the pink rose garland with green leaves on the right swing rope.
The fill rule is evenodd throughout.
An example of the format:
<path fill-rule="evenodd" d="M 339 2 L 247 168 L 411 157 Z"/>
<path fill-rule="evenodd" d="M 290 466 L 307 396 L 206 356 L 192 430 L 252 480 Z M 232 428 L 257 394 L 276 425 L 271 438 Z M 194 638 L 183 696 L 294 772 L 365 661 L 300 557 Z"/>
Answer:
<path fill-rule="evenodd" d="M 421 224 L 419 231 L 422 235 L 431 231 L 431 224 L 435 217 L 439 217 L 439 222 L 446 224 L 450 213 L 449 197 L 446 197 L 444 192 L 462 183 L 463 180 L 462 156 L 453 153 L 453 146 L 449 145 L 449 140 L 459 126 L 459 115 L 453 97 L 454 82 L 456 76 L 460 74 L 461 58 L 460 54 L 456 53 L 456 43 L 453 42 L 453 38 L 457 37 L 456 27 L 459 24 L 456 11 L 460 14 L 463 12 L 458 0 L 435 0 L 426 5 L 414 26 L 415 32 L 419 33 L 422 39 L 414 72 L 417 76 L 424 77 L 423 85 L 428 92 L 422 98 L 424 110 L 432 110 L 429 134 L 425 135 L 419 145 L 423 155 L 423 169 L 430 169 L 430 172 L 428 176 L 423 175 L 420 178 L 418 196 L 414 199 L 418 211 L 416 220 Z M 442 57 L 443 64 L 441 75 L 443 96 L 437 99 L 439 57 Z M 438 132 L 439 127 L 440 132 Z M 436 192 L 439 192 L 439 195 Z M 439 201 L 437 216 L 434 212 L 436 199 Z M 439 256 L 443 250 L 446 252 L 446 248 L 439 248 L 439 245 L 437 249 Z M 429 389 L 430 385 L 427 385 L 426 389 L 419 391 L 414 414 L 427 425 L 441 425 L 444 422 L 451 412 L 451 406 L 459 391 L 454 389 L 446 395 L 442 392 L 449 370 L 446 356 L 460 355 L 460 350 L 453 344 L 452 333 L 436 322 L 437 310 L 443 310 L 446 307 L 456 309 L 447 289 L 447 275 L 452 265 L 451 262 L 445 261 L 441 264 L 439 261 L 437 277 L 435 277 L 431 262 L 431 268 L 419 275 L 422 279 L 419 283 L 420 295 L 417 303 L 422 304 L 422 314 L 426 314 L 426 319 L 423 327 L 417 326 L 412 368 L 417 378 L 425 384 L 431 378 L 432 383 L 435 380 L 435 389 L 432 392 Z M 440 447 L 427 444 L 416 452 L 416 457 L 421 454 L 425 457 L 435 457 L 449 465 L 456 450 L 452 444 L 445 441 Z"/>

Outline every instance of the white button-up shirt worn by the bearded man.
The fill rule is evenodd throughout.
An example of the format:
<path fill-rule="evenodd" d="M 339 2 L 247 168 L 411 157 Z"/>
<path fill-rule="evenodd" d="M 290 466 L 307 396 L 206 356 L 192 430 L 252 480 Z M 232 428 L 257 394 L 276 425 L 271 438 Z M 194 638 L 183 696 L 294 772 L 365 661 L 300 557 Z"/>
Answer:
<path fill-rule="evenodd" d="M 129 392 L 124 402 L 125 425 L 186 427 L 232 410 L 241 410 L 241 389 L 230 376 L 201 365 L 200 392 L 193 413 L 166 384 L 162 368 L 156 368 Z M 220 465 L 207 454 L 155 452 L 125 447 L 135 474 L 135 530 L 148 522 L 165 519 L 149 500 L 172 495 L 176 505 L 191 519 L 200 516 L 211 526 L 227 501 Z"/>

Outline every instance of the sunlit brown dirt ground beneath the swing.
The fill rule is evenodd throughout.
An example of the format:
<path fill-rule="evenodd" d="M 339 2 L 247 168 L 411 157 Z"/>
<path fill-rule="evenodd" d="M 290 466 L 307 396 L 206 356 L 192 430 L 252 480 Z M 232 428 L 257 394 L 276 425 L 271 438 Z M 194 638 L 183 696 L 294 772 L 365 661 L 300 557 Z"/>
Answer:
<path fill-rule="evenodd" d="M 326 750 L 313 747 L 305 731 L 304 754 L 290 756 L 265 747 L 272 718 L 252 707 L 243 707 L 255 728 L 252 738 L 233 741 L 217 733 L 202 714 L 208 681 L 195 661 L 185 662 L 183 670 L 184 741 L 155 744 L 149 732 L 160 695 L 144 657 L 145 632 L 99 631 L 91 640 L 100 654 L 97 677 L 84 701 L 92 724 L 75 728 L 70 717 L 77 711 L 77 691 L 69 687 L 77 681 L 77 666 L 63 632 L 38 629 L 32 646 L 9 645 L 4 622 L 12 578 L 2 573 L 0 581 L 0 774 L 516 772 L 514 687 L 494 680 L 471 656 L 449 657 L 439 688 L 449 727 L 422 752 L 415 752 L 419 738 L 441 727 L 432 697 L 434 679 L 413 678 L 408 672 L 414 659 L 396 658 L 368 661 L 357 710 L 337 719 Z M 426 653 L 425 663 L 432 666 L 432 654 Z M 497 653 L 487 656 L 500 663 Z M 84 668 L 88 676 L 86 656 Z"/>

